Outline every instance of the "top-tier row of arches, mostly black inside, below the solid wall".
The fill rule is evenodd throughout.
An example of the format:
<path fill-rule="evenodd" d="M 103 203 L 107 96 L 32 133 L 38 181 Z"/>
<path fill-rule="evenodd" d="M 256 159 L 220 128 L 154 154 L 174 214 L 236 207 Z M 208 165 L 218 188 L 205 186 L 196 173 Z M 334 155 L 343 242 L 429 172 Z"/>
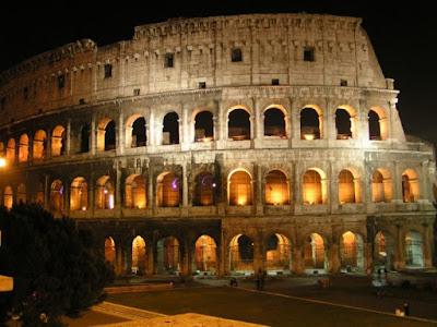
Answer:
<path fill-rule="evenodd" d="M 335 111 L 335 131 L 338 140 L 356 138 L 357 136 L 357 118 L 356 112 L 349 106 L 343 106 Z M 368 135 L 370 140 L 387 140 L 387 114 L 380 108 L 374 108 L 368 113 Z M 110 118 L 103 119 L 96 126 L 96 144 L 97 150 L 110 150 L 116 148 L 117 133 L 116 131 L 125 131 L 125 143 L 127 147 L 142 147 L 150 145 L 147 141 L 147 124 L 145 118 L 140 114 L 130 117 L 126 122 L 126 129 L 117 129 L 115 120 Z M 191 140 L 189 142 L 209 142 L 214 140 L 214 122 L 213 113 L 206 109 L 198 110 L 192 118 L 191 125 L 193 129 Z M 151 126 L 149 126 L 151 128 Z M 251 126 L 251 118 L 247 108 L 233 108 L 228 113 L 227 137 L 234 141 L 243 141 L 253 138 Z M 291 128 L 287 125 L 286 110 L 281 107 L 270 107 L 263 114 L 264 136 L 275 136 L 279 138 L 290 137 Z M 163 118 L 162 133 L 155 144 L 179 144 L 179 116 L 176 112 L 168 112 Z M 38 130 L 34 135 L 24 133 L 16 140 L 10 137 L 7 141 L 0 141 L 1 153 L 5 152 L 8 161 L 13 162 L 15 158 L 20 162 L 33 159 L 44 159 L 49 155 L 58 157 L 67 152 L 67 130 L 63 125 L 57 125 L 50 131 L 49 135 L 45 130 Z M 91 128 L 87 124 L 81 126 L 78 134 L 79 142 L 73 144 L 76 146 L 73 153 L 87 153 L 92 148 Z M 156 133 L 153 133 L 156 134 Z M 184 133 L 182 133 L 184 134 Z M 150 137 L 151 135 L 149 135 Z M 32 140 L 31 140 L 32 137 Z M 304 108 L 300 111 L 300 138 L 317 140 L 323 138 L 323 118 L 319 107 L 312 106 Z M 32 146 L 31 146 L 32 142 Z"/>

